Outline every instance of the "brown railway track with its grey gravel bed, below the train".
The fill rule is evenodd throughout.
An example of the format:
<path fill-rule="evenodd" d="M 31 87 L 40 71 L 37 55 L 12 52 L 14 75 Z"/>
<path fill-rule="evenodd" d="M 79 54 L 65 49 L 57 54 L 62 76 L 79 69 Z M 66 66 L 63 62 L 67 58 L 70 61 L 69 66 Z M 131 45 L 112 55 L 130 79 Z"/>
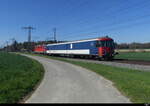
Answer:
<path fill-rule="evenodd" d="M 149 61 L 135 61 L 135 60 L 123 60 L 115 59 L 113 61 L 98 61 L 95 59 L 81 59 L 81 58 L 66 58 L 72 61 L 81 61 L 88 63 L 104 64 L 120 68 L 128 68 L 134 70 L 148 71 L 150 72 L 150 62 Z"/>

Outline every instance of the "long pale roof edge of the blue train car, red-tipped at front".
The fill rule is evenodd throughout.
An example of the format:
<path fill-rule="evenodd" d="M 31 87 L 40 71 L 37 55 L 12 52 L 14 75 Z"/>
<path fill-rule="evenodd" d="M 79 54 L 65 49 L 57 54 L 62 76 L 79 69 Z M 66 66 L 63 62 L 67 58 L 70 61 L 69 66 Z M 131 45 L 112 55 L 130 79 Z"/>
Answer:
<path fill-rule="evenodd" d="M 77 41 L 70 41 L 70 42 L 64 42 L 64 43 L 48 44 L 47 46 L 70 44 L 70 43 L 79 43 L 79 42 L 87 42 L 87 41 L 95 41 L 95 40 L 104 40 L 104 39 L 111 39 L 111 38 L 106 36 L 106 37 L 101 37 L 101 38 L 93 38 L 93 39 L 77 40 Z"/>

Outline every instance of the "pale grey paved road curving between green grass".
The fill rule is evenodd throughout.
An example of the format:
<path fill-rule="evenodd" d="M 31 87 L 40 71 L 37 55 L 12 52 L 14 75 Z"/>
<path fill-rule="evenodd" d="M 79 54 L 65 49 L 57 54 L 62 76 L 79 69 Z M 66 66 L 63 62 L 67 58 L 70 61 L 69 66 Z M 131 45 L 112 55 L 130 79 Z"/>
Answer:
<path fill-rule="evenodd" d="M 94 72 L 57 60 L 28 57 L 42 63 L 46 72 L 25 103 L 130 103 L 112 82 Z"/>

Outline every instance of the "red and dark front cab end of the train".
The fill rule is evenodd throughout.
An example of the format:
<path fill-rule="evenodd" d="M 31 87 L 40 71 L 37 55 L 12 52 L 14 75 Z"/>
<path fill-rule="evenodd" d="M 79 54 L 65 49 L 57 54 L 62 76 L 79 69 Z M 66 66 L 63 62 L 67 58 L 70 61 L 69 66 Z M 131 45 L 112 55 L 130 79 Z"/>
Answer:
<path fill-rule="evenodd" d="M 99 38 L 97 41 L 97 47 L 100 59 L 112 60 L 115 56 L 115 43 L 112 38 Z"/>

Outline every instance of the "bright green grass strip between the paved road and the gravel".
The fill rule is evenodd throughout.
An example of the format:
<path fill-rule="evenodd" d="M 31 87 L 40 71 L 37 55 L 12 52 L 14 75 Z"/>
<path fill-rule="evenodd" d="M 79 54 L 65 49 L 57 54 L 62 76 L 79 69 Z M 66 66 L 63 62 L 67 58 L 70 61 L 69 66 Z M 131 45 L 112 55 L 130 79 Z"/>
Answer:
<path fill-rule="evenodd" d="M 43 56 L 43 55 L 39 55 Z M 65 61 L 94 71 L 114 83 L 123 95 L 134 103 L 150 103 L 150 72 L 117 68 L 113 66 L 71 61 L 65 58 L 43 56 L 50 59 Z"/>

